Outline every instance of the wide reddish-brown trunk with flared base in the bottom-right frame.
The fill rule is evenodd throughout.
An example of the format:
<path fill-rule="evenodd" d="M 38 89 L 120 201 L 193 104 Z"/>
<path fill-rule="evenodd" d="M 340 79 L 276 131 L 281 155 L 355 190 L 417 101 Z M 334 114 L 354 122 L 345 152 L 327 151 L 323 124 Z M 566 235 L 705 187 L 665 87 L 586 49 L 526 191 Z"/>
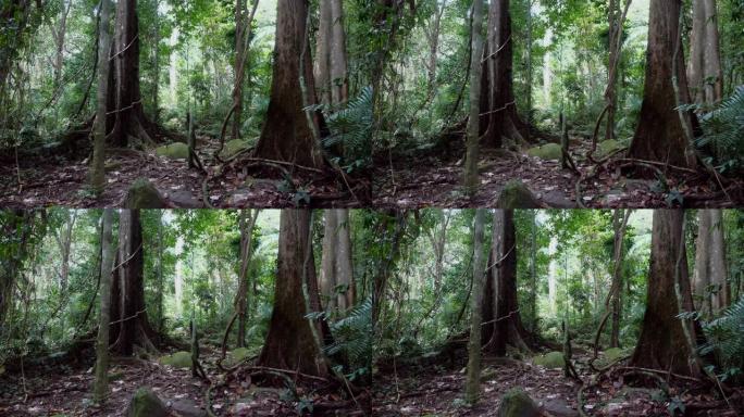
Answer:
<path fill-rule="evenodd" d="M 677 317 L 682 312 L 678 306 L 675 287 L 679 288 L 682 308 L 685 312 L 695 308 L 687 277 L 683 223 L 682 211 L 654 212 L 646 313 L 631 364 L 697 376 L 700 369 L 691 361 L 694 353 L 682 326 L 687 326 L 692 341 L 696 340 L 697 330 Z"/>

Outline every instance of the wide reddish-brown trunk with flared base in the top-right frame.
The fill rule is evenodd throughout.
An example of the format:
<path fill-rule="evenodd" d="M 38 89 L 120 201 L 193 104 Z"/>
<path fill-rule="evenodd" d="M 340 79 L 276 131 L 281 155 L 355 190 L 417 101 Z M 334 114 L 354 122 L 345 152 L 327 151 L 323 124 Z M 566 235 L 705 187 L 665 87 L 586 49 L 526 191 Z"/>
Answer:
<path fill-rule="evenodd" d="M 643 104 L 629 155 L 694 168 L 697 161 L 687 139 L 693 116 L 685 114 L 683 125 L 675 110 L 678 98 L 672 81 L 675 77 L 680 103 L 689 103 L 679 33 L 680 9 L 680 0 L 652 0 Z"/>

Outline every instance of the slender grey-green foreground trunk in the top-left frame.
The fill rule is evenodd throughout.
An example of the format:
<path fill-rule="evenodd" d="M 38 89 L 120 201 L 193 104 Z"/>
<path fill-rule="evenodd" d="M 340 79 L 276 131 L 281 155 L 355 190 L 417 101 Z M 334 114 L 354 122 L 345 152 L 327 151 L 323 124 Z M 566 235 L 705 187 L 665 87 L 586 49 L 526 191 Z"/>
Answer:
<path fill-rule="evenodd" d="M 101 0 L 101 16 L 98 25 L 98 90 L 96 92 L 96 119 L 94 121 L 94 155 L 90 161 L 90 185 L 100 195 L 106 187 L 106 132 L 109 83 L 109 56 L 111 55 L 111 1 Z"/>

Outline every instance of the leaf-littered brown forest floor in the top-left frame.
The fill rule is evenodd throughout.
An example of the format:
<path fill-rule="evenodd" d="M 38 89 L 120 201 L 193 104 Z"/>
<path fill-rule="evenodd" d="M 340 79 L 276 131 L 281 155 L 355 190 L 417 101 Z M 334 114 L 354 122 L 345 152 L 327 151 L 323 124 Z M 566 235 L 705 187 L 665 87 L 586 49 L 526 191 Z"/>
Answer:
<path fill-rule="evenodd" d="M 216 141 L 202 138 L 198 153 L 206 173 L 189 168 L 184 159 L 158 156 L 154 151 L 114 150 L 106 162 L 106 191 L 98 199 L 87 191 L 87 157 L 25 155 L 17 165 L 5 157 L 0 161 L 0 206 L 119 207 L 138 178 L 152 182 L 174 208 L 357 207 L 369 199 L 363 179 L 347 175 L 348 187 L 355 190 L 349 192 L 333 170 L 295 170 L 247 155 L 223 164 L 212 157 L 216 148 Z"/>

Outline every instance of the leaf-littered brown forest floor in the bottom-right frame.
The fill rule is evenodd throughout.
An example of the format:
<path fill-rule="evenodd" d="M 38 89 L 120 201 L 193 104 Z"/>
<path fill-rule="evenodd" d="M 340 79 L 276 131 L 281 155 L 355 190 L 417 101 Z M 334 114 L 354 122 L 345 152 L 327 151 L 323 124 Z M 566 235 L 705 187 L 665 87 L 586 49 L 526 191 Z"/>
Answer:
<path fill-rule="evenodd" d="M 597 376 L 586 365 L 588 355 L 576 355 L 574 363 L 584 383 Z M 486 356 L 481 364 L 481 399 L 476 406 L 463 402 L 466 386 L 463 353 L 458 361 L 429 366 L 381 367 L 373 384 L 372 413 L 380 417 L 407 416 L 495 416 L 501 396 L 510 389 L 523 390 L 546 417 L 579 417 L 579 390 L 582 383 L 566 378 L 562 368 L 547 369 L 526 362 Z M 615 369 L 615 368 L 613 368 Z M 617 369 L 622 370 L 619 366 Z M 671 381 L 664 393 L 655 381 L 634 379 L 629 372 L 607 372 L 585 389 L 583 412 L 588 416 L 670 416 L 677 399 L 686 405 L 685 416 L 728 416 L 744 413 L 744 396 L 730 408 L 715 399 L 710 387 L 689 381 Z M 730 399 L 732 400 L 732 399 Z M 732 400 L 733 401 L 733 400 Z"/>

